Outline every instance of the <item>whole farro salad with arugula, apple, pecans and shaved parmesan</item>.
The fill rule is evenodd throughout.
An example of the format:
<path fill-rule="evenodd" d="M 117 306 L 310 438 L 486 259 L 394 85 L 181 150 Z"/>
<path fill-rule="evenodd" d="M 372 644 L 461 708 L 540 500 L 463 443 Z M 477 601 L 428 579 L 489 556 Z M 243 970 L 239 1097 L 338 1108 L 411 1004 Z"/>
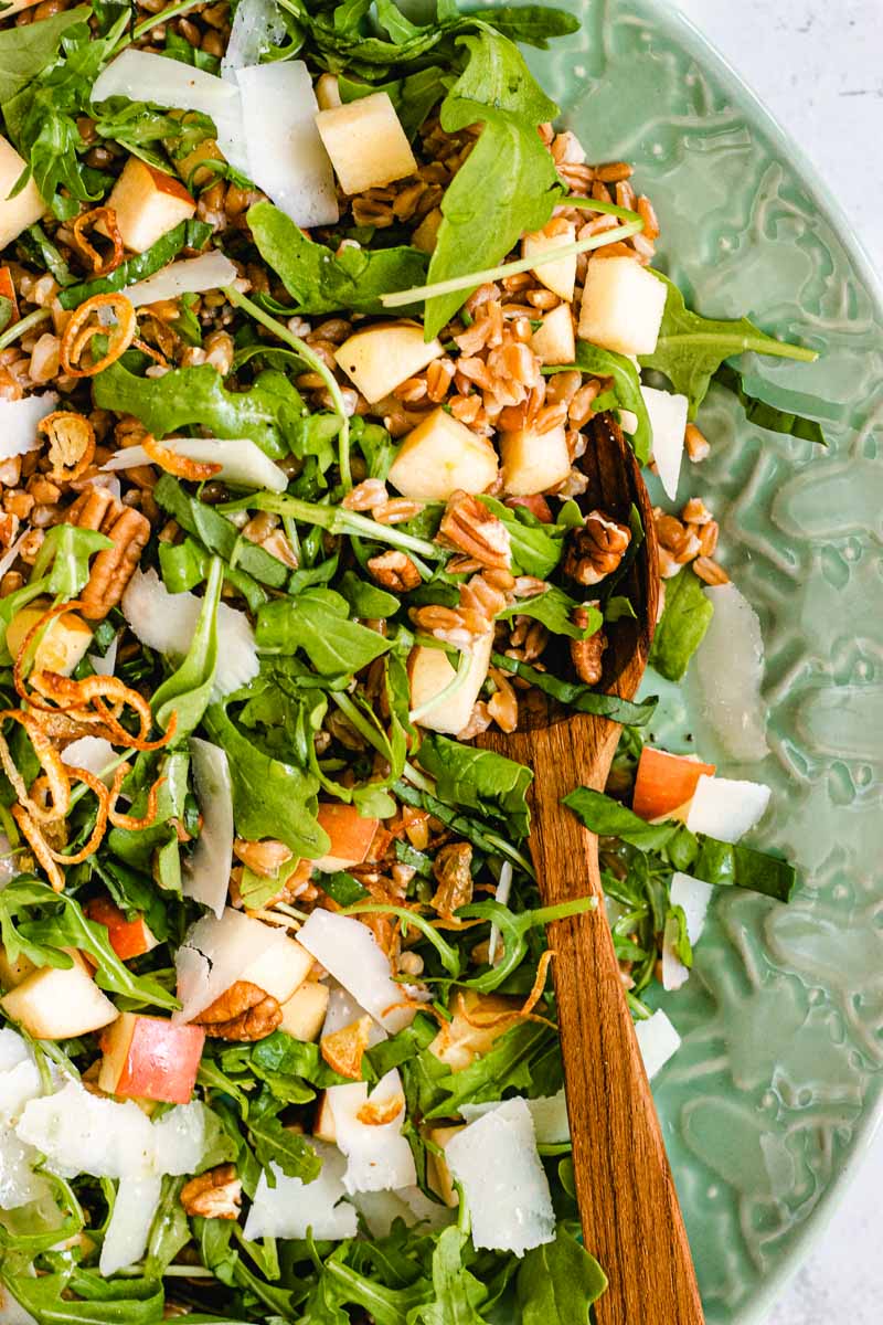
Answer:
<path fill-rule="evenodd" d="M 651 664 L 763 757 L 757 617 L 696 412 L 759 427 L 625 162 L 518 42 L 555 8 L 12 0 L 0 24 L 0 1280 L 7 1321 L 575 1325 L 530 770 L 536 688 L 622 723 L 604 836 L 647 1071 L 769 790 L 600 689 L 658 493 Z M 686 458 L 684 458 L 686 457 Z M 695 474 L 695 477 L 694 477 Z M 684 500 L 684 488 L 691 496 Z M 703 643 L 704 640 L 704 643 Z M 569 904 L 571 910 L 590 902 Z"/>

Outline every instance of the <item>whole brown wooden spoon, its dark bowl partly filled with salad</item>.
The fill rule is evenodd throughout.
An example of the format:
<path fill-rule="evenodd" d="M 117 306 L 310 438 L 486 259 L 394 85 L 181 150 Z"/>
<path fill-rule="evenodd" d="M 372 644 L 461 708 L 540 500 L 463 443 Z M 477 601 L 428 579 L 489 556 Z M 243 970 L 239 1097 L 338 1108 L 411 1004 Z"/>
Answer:
<path fill-rule="evenodd" d="M 594 421 L 582 469 L 585 510 L 627 523 L 634 504 L 645 529 L 622 590 L 638 620 L 608 628 L 601 681 L 608 693 L 630 700 L 658 608 L 653 511 L 639 466 L 609 416 Z M 699 1325 L 690 1246 L 606 920 L 598 841 L 561 806 L 575 787 L 604 790 L 620 727 L 556 712 L 536 692 L 520 709 L 518 731 L 487 731 L 478 743 L 534 770 L 531 853 L 543 902 L 598 898 L 594 912 L 548 929 L 582 1234 L 610 1280 L 597 1318 L 600 1325 Z"/>

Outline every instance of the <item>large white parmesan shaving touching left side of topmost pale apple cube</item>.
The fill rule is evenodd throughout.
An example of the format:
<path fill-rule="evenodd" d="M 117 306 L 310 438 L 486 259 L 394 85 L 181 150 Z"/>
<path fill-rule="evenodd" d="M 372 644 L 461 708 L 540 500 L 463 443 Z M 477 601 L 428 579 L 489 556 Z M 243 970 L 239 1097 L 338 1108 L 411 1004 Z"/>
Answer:
<path fill-rule="evenodd" d="M 302 60 L 237 69 L 249 178 L 295 225 L 338 220 L 338 191 L 316 129 L 319 105 Z"/>

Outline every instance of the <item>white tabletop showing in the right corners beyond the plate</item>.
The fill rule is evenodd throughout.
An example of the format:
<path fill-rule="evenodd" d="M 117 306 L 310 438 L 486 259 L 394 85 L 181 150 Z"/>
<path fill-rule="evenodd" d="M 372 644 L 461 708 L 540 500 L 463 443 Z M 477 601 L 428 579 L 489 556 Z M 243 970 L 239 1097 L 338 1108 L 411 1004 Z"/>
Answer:
<path fill-rule="evenodd" d="M 676 0 L 800 143 L 883 273 L 883 0 Z M 768 1325 L 880 1325 L 883 1130 Z"/>

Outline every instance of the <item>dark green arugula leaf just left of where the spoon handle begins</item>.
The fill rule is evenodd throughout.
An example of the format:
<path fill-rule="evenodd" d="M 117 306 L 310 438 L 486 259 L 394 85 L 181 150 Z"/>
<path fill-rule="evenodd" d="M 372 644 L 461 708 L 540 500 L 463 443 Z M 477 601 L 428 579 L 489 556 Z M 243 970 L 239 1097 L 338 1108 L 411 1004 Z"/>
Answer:
<path fill-rule="evenodd" d="M 436 733 L 424 738 L 417 762 L 436 779 L 441 800 L 500 819 L 514 837 L 527 837 L 531 812 L 526 798 L 534 774 L 523 763 Z"/>

